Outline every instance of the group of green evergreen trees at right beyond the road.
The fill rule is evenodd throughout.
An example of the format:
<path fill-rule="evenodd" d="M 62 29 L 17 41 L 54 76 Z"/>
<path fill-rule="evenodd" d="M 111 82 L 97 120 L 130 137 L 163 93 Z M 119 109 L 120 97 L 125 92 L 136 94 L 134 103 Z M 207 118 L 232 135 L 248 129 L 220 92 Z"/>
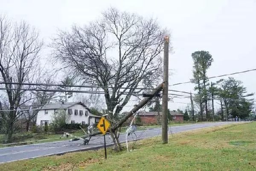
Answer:
<path fill-rule="evenodd" d="M 233 77 L 209 82 L 207 70 L 211 67 L 213 58 L 208 51 L 196 51 L 192 53 L 194 90 L 197 93 L 190 96 L 190 115 L 200 120 L 226 120 L 235 118 L 249 118 L 253 113 L 254 93 L 247 93 L 242 82 Z M 249 98 L 249 99 L 248 99 Z M 219 101 L 221 107 L 215 116 L 214 101 Z M 193 103 L 194 102 L 194 103 Z M 195 105 L 194 105 L 195 104 Z M 210 108 L 211 107 L 211 108 Z M 217 118 L 215 118 L 217 117 Z"/>

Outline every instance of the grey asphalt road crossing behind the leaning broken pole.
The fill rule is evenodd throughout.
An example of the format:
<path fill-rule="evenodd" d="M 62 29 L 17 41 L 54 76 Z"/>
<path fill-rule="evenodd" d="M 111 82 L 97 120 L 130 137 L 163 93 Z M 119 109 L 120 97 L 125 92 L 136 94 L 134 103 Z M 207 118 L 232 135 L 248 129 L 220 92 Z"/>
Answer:
<path fill-rule="evenodd" d="M 213 122 L 213 123 L 202 123 L 202 124 L 193 124 L 193 125 L 183 125 L 183 126 L 174 126 L 169 127 L 169 133 L 177 133 L 186 130 L 193 130 L 198 128 L 205 128 L 210 126 L 218 126 L 218 125 L 227 125 L 234 122 Z M 171 129 L 170 129 L 171 128 Z M 147 130 L 137 130 L 136 135 L 139 139 L 144 139 L 152 136 L 161 136 L 162 129 L 161 128 L 151 128 Z M 128 140 L 136 139 L 136 136 L 128 136 Z M 125 142 L 125 133 L 120 134 L 119 136 L 120 142 Z M 57 142 L 47 142 L 41 144 L 32 144 L 32 145 L 21 145 L 15 147 L 8 148 L 0 148 L 0 163 L 4 162 L 12 162 L 22 159 L 31 159 L 35 157 L 42 156 L 50 156 L 50 155 L 61 155 L 67 152 L 72 151 L 85 151 L 91 149 L 97 149 L 104 147 L 104 138 L 103 136 L 96 136 L 90 139 L 88 145 L 81 145 L 82 140 L 69 142 L 65 141 L 57 141 Z M 106 144 L 113 145 L 109 135 L 106 135 Z"/>

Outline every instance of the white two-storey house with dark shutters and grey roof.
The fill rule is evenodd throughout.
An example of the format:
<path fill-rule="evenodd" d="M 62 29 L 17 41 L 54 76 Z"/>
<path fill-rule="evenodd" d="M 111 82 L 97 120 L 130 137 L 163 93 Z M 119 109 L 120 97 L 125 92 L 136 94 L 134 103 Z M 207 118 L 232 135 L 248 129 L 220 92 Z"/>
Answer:
<path fill-rule="evenodd" d="M 101 116 L 90 113 L 90 109 L 82 102 L 70 103 L 49 103 L 45 104 L 38 111 L 37 125 L 45 125 L 51 123 L 52 116 L 55 114 L 66 114 L 68 116 L 67 123 L 79 123 L 82 125 L 90 123 L 98 123 Z"/>

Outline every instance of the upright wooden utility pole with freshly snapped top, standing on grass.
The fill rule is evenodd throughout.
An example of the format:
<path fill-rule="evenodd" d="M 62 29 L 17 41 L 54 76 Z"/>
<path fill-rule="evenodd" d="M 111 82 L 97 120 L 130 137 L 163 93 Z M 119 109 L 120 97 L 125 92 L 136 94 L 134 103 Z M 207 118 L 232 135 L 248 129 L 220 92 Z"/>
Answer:
<path fill-rule="evenodd" d="M 162 99 L 162 141 L 168 143 L 168 70 L 169 70 L 169 36 L 164 38 L 163 52 L 163 99 Z"/>

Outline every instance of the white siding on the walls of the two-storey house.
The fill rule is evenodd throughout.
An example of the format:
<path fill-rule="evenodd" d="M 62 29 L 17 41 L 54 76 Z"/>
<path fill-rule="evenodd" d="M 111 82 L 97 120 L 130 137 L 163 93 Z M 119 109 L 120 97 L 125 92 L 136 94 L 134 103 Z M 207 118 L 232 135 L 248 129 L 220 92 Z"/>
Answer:
<path fill-rule="evenodd" d="M 89 123 L 89 116 L 85 116 L 85 112 L 88 113 L 88 115 L 90 115 L 90 112 L 81 104 L 75 104 L 71 107 L 69 107 L 70 109 L 72 109 L 72 114 L 69 115 L 68 114 L 68 109 L 66 109 L 66 114 L 69 117 L 67 123 L 70 124 L 71 121 L 75 121 L 75 123 L 82 123 L 82 121 L 85 122 L 85 124 L 90 124 Z M 75 110 L 78 110 L 78 115 L 75 115 Z M 80 116 L 80 113 L 79 111 L 82 110 L 83 111 L 83 115 Z M 41 121 L 45 121 L 45 120 L 49 120 L 49 123 L 51 123 L 51 120 L 52 120 L 52 116 L 54 114 L 54 109 L 51 109 L 51 110 L 48 110 L 48 114 L 45 114 L 45 110 L 40 110 L 38 112 L 38 116 L 37 116 L 37 122 L 36 124 L 37 125 L 40 125 L 41 124 Z M 62 110 L 63 111 L 63 110 Z M 61 112 L 60 110 L 58 110 L 58 112 Z M 93 120 L 93 123 L 95 122 L 95 118 L 92 118 Z"/>

